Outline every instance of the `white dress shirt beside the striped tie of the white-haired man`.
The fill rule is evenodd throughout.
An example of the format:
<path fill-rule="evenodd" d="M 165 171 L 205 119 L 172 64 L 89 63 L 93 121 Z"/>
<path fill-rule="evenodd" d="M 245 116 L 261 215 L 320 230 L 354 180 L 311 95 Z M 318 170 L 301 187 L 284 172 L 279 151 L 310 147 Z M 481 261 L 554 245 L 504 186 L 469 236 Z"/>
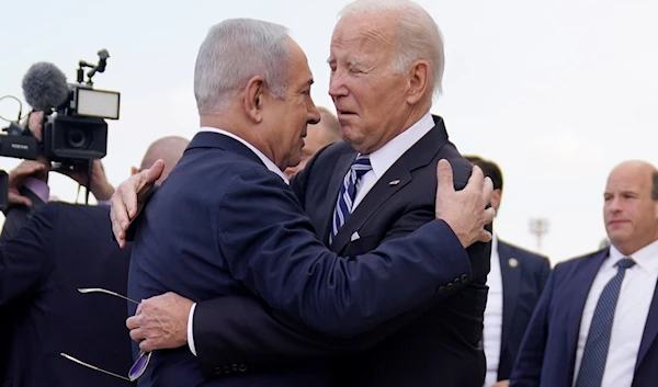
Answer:
<path fill-rule="evenodd" d="M 370 161 L 373 169 L 367 171 L 361 178 L 356 197 L 354 197 L 354 208 L 363 201 L 365 195 L 375 185 L 375 183 L 386 173 L 397 159 L 399 159 L 409 148 L 418 140 L 428 134 L 434 127 L 434 118 L 432 114 L 427 112 L 416 124 L 411 125 L 407 130 L 400 133 L 390 141 L 386 143 L 382 148 L 370 153 Z"/>

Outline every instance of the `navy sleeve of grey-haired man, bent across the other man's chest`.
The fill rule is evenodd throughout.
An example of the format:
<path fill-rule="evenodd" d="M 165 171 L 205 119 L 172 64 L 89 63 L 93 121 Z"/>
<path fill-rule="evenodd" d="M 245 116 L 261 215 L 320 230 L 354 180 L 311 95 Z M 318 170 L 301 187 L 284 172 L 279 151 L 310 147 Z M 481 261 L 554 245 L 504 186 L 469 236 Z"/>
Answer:
<path fill-rule="evenodd" d="M 338 257 L 314 234 L 292 191 L 272 179 L 253 170 L 227 189 L 218 246 L 235 278 L 315 331 L 354 337 L 470 276 L 468 254 L 442 220 L 367 254 Z"/>

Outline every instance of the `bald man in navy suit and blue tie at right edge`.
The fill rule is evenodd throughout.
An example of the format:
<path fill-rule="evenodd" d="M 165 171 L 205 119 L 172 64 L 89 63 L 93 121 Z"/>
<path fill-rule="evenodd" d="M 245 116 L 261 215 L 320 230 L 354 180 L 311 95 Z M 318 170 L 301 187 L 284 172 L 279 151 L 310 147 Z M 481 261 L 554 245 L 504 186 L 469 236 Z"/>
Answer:
<path fill-rule="evenodd" d="M 656 386 L 658 169 L 617 164 L 605 184 L 603 220 L 609 247 L 553 270 L 510 386 Z"/>

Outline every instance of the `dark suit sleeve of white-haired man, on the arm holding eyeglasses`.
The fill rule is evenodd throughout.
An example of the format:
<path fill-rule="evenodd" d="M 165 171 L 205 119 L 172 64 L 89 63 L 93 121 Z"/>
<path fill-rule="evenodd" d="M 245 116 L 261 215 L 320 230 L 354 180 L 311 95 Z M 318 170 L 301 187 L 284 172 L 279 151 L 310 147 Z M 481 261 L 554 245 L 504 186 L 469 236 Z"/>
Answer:
<path fill-rule="evenodd" d="M 433 214 L 420 209 L 406 214 L 393 227 L 390 238 L 405 237 L 433 218 Z M 253 371 L 254 367 L 298 358 L 366 351 L 436 306 L 441 299 L 442 296 L 435 296 L 419 308 L 353 338 L 337 338 L 315 331 L 253 297 L 219 297 L 196 305 L 193 321 L 196 353 L 202 372 L 213 375 L 216 367 L 236 363 L 249 364 Z"/>

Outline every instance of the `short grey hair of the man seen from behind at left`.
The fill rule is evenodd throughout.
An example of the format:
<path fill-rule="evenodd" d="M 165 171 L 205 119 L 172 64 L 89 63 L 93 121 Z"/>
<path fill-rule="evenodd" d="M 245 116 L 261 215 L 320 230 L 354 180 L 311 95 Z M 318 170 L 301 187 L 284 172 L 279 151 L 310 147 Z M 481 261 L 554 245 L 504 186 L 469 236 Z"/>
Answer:
<path fill-rule="evenodd" d="M 253 77 L 261 76 L 274 98 L 285 96 L 287 29 L 253 19 L 214 25 L 196 56 L 194 96 L 198 114 L 219 113 Z"/>

